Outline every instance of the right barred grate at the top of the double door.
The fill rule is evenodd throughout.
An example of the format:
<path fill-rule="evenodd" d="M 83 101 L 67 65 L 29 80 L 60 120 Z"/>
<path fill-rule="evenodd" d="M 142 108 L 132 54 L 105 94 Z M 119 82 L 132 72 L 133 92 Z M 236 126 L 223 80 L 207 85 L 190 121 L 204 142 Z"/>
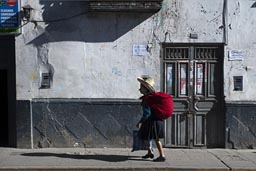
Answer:
<path fill-rule="evenodd" d="M 195 48 L 195 59 L 217 59 L 217 48 Z"/>

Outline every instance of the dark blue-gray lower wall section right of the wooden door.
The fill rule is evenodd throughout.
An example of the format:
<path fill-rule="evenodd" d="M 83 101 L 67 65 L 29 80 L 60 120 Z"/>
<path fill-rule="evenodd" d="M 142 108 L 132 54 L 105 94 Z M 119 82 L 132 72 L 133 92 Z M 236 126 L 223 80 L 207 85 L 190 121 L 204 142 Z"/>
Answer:
<path fill-rule="evenodd" d="M 226 147 L 256 148 L 256 104 L 228 103 L 226 105 Z"/>

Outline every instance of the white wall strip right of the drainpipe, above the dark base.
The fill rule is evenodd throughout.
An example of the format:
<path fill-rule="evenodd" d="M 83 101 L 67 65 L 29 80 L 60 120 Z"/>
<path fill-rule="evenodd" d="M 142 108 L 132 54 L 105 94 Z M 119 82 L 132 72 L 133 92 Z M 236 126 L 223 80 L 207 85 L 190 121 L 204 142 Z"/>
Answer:
<path fill-rule="evenodd" d="M 225 95 L 227 101 L 255 101 L 256 8 L 255 1 L 229 2 L 228 44 L 225 53 Z M 228 52 L 242 50 L 242 61 L 229 61 Z M 233 76 L 243 76 L 243 91 L 234 91 Z"/>

